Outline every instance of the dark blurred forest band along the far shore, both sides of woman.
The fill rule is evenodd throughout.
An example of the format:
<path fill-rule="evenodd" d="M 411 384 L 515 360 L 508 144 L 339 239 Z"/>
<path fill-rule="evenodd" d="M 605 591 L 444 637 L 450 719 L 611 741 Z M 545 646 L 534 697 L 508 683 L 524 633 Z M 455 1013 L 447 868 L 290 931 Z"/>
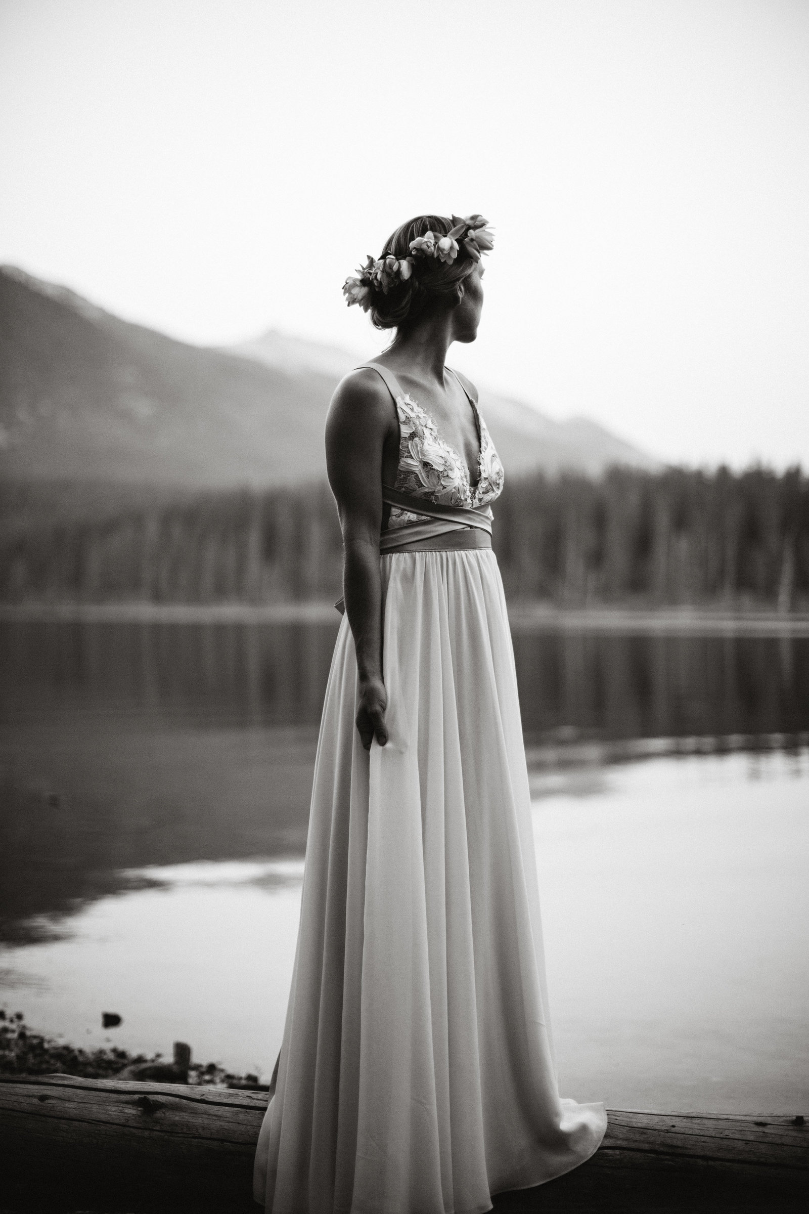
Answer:
<path fill-rule="evenodd" d="M 35 497 L 35 495 L 34 495 Z M 49 510 L 6 486 L 5 602 L 296 602 L 340 594 L 342 543 L 325 483 Z M 809 478 L 613 469 L 534 475 L 495 505 L 511 600 L 559 606 L 809 607 Z"/>

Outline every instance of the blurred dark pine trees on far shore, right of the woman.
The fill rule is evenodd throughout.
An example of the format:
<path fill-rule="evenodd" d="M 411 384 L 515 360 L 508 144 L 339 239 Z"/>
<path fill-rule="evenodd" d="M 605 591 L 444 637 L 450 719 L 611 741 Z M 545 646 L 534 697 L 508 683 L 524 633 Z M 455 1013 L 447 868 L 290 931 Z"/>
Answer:
<path fill-rule="evenodd" d="M 809 481 L 797 469 L 535 476 L 508 487 L 497 522 L 512 597 L 786 609 L 809 591 Z"/>

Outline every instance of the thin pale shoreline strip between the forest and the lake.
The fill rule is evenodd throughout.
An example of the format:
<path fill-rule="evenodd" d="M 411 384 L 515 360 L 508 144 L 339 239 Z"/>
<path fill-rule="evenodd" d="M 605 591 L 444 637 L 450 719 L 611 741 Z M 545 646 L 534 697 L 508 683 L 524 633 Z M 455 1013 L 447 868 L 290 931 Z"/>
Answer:
<path fill-rule="evenodd" d="M 739 634 L 809 636 L 809 612 L 727 607 L 558 607 L 508 605 L 513 631 Z M 0 603 L 0 623 L 65 624 L 340 624 L 329 600 L 278 603 L 25 602 Z"/>

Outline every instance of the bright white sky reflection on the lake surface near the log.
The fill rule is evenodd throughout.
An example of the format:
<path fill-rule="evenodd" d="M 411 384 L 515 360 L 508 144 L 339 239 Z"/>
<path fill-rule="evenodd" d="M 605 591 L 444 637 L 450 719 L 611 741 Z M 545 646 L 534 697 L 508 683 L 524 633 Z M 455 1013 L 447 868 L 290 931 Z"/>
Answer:
<path fill-rule="evenodd" d="M 754 777 L 754 778 L 753 778 Z M 537 773 L 534 829 L 565 1094 L 610 1107 L 801 1110 L 809 1082 L 809 750 Z M 0 949 L 7 998 L 89 1046 L 269 1074 L 301 861 L 175 864 Z M 4 955 L 5 954 L 5 955 Z M 13 994 L 12 994 L 13 992 Z"/>

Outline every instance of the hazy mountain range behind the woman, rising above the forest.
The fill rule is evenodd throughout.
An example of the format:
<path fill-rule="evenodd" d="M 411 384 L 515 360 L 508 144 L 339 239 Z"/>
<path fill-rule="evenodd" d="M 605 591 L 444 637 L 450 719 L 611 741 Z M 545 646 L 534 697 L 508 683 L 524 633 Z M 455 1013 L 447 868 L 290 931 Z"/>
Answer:
<path fill-rule="evenodd" d="M 0 268 L 0 476 L 186 489 L 324 473 L 323 429 L 357 356 L 270 331 L 192 346 Z M 507 471 L 650 466 L 593 422 L 482 393 Z"/>

